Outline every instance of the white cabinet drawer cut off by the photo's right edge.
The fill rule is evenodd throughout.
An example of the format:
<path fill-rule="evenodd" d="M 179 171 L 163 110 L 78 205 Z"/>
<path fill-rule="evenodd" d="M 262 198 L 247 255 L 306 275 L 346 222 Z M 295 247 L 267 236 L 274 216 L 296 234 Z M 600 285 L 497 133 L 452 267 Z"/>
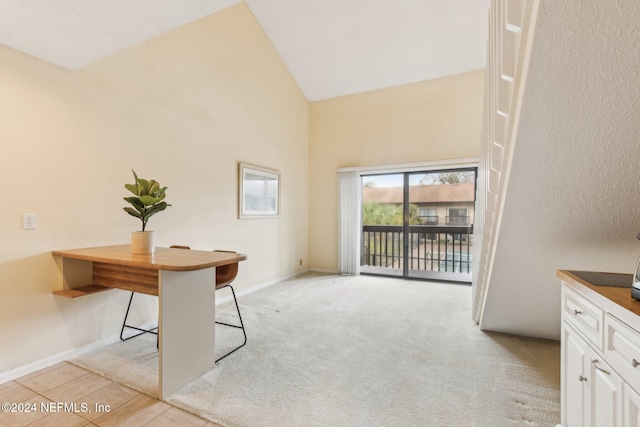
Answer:
<path fill-rule="evenodd" d="M 629 385 L 640 390 L 640 333 L 607 314 L 604 357 Z"/>

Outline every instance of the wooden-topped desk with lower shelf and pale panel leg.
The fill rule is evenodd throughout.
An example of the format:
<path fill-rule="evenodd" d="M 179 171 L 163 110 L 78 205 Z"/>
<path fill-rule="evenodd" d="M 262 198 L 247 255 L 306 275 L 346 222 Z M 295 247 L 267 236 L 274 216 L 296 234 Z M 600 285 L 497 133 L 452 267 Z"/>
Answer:
<path fill-rule="evenodd" d="M 129 245 L 53 251 L 60 270 L 55 295 L 75 298 L 111 288 L 159 296 L 159 397 L 215 366 L 216 267 L 242 254 Z"/>

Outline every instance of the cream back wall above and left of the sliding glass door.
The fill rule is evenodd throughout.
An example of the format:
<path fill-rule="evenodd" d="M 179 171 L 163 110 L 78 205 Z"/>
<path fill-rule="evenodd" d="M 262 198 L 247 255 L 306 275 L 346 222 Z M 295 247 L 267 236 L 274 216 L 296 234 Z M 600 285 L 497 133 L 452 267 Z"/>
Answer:
<path fill-rule="evenodd" d="M 336 169 L 477 157 L 484 71 L 313 102 L 310 266 L 338 268 Z"/>

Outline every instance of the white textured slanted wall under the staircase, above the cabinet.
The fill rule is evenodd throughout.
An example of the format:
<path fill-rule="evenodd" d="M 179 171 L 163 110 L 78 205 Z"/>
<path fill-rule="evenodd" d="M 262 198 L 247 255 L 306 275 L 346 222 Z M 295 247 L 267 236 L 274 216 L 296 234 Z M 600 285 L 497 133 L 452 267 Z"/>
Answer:
<path fill-rule="evenodd" d="M 631 273 L 640 3 L 542 0 L 481 327 L 560 336 L 557 269 Z"/>

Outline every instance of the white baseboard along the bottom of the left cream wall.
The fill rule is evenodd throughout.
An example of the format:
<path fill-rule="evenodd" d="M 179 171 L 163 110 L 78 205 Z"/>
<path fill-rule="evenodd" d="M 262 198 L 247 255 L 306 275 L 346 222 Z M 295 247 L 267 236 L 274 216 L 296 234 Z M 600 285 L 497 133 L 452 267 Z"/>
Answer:
<path fill-rule="evenodd" d="M 290 279 L 294 276 L 297 276 L 299 274 L 305 273 L 305 271 L 297 271 L 295 273 L 292 273 L 290 275 L 284 276 L 284 277 L 280 277 L 278 279 L 273 279 L 270 280 L 268 282 L 265 283 L 261 283 L 259 285 L 256 286 L 252 286 L 249 289 L 244 289 L 242 291 L 239 291 L 236 293 L 236 296 L 241 296 L 241 295 L 247 295 L 250 294 L 252 292 L 258 291 L 260 289 L 264 289 L 267 288 L 269 286 L 275 285 L 276 283 L 282 282 L 284 280 Z M 227 301 L 231 301 L 232 297 L 231 295 L 229 296 L 225 296 L 222 298 L 216 298 L 216 305 L 218 304 L 222 304 L 224 302 Z M 150 329 L 155 327 L 155 324 L 149 324 L 149 325 L 143 325 L 141 326 L 142 328 L 145 329 Z M 100 347 L 105 347 L 107 345 L 111 345 L 111 344 L 115 344 L 118 341 L 120 341 L 120 335 L 114 335 L 111 337 L 107 337 L 107 338 L 103 338 L 99 341 L 94 341 L 92 343 L 83 345 L 81 347 L 77 347 L 77 348 L 72 348 L 70 350 L 65 350 L 63 352 L 60 352 L 58 354 L 54 354 L 53 356 L 49 356 L 49 357 L 45 357 L 44 359 L 40 359 L 36 362 L 33 363 L 29 363 L 28 365 L 24 365 L 24 366 L 20 366 L 18 368 L 12 369 L 10 371 L 6 371 L 6 372 L 2 372 L 0 373 L 0 384 L 4 384 L 6 382 L 9 381 L 13 381 L 16 378 L 20 378 L 23 377 L 25 375 L 29 375 L 33 372 L 39 371 L 41 369 L 45 369 L 48 368 L 49 366 L 53 366 L 56 363 L 60 363 L 60 362 L 64 362 L 67 361 L 69 359 L 73 359 L 79 356 L 82 356 L 85 353 L 88 353 L 90 351 L 96 350 Z"/>

